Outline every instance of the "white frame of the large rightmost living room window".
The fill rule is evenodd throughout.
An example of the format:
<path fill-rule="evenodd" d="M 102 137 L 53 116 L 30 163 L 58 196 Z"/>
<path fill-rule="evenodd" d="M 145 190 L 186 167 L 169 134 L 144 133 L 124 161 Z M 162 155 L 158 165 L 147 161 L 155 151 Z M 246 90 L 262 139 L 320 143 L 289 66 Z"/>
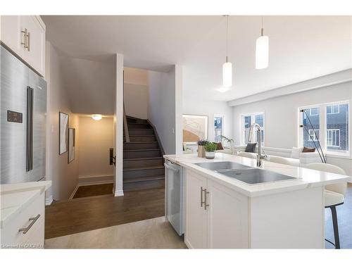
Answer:
<path fill-rule="evenodd" d="M 336 106 L 336 105 L 341 105 L 341 104 L 348 104 L 348 151 L 345 152 L 338 152 L 338 151 L 333 151 L 327 149 L 327 106 Z M 352 122 L 352 117 L 351 117 L 351 101 L 346 100 L 346 101 L 334 101 L 334 102 L 329 102 L 329 103 L 319 103 L 315 105 L 310 105 L 310 106 L 300 106 L 298 107 L 298 132 L 297 132 L 297 146 L 303 146 L 303 133 L 302 133 L 302 128 L 299 127 L 299 125 L 302 124 L 302 118 L 303 115 L 301 113 L 301 110 L 307 109 L 307 108 L 319 108 L 319 125 L 320 125 L 320 145 L 322 146 L 322 150 L 326 154 L 326 156 L 330 157 L 349 157 L 352 158 L 352 151 L 351 151 L 351 122 Z M 340 109 L 340 107 L 339 107 Z M 340 112 L 340 111 L 339 111 Z M 341 132 L 340 132 L 340 137 L 341 137 Z M 341 140 L 341 138 L 340 138 Z M 339 142 L 341 144 L 341 142 Z"/>

